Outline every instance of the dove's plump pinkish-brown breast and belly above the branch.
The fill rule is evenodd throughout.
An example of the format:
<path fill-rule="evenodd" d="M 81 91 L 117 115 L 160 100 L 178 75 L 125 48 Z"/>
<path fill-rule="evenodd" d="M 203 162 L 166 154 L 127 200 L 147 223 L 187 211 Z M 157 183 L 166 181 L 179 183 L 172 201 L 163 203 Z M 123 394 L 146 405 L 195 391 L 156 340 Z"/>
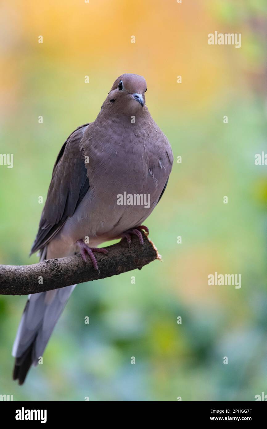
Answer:
<path fill-rule="evenodd" d="M 92 127 L 83 148 L 90 188 L 62 233 L 74 242 L 89 236 L 93 246 L 150 215 L 171 172 L 172 152 L 154 122 L 112 133 Z"/>

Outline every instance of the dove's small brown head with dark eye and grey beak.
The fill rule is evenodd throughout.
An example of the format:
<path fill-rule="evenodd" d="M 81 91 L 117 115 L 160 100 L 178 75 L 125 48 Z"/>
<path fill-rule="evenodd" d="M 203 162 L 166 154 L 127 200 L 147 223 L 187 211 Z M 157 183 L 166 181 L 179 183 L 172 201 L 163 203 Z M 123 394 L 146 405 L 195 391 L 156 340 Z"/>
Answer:
<path fill-rule="evenodd" d="M 105 100 L 105 107 L 111 112 L 134 113 L 144 109 L 147 82 L 143 76 L 125 73 L 119 76 Z"/>

